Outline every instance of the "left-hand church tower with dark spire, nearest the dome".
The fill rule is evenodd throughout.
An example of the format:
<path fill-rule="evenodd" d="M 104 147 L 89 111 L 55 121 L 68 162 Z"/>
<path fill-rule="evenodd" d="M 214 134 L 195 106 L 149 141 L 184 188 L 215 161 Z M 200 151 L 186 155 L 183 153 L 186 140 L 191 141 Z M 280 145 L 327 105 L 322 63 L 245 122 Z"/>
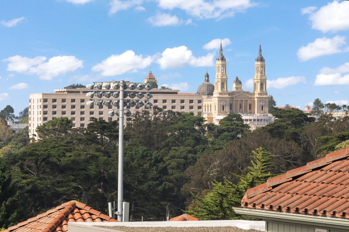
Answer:
<path fill-rule="evenodd" d="M 219 55 L 216 59 L 215 93 L 228 93 L 227 61 L 223 56 L 222 41 Z"/>

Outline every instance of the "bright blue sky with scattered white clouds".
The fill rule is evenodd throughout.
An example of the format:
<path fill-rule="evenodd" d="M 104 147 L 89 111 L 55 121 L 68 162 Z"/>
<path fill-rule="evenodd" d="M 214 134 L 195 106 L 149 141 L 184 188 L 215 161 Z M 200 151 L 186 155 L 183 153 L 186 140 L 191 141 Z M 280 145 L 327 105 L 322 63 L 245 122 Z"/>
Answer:
<path fill-rule="evenodd" d="M 0 1 L 0 110 L 72 83 L 142 82 L 193 93 L 214 82 L 219 43 L 228 86 L 252 91 L 261 41 L 277 106 L 349 104 L 349 1 Z"/>

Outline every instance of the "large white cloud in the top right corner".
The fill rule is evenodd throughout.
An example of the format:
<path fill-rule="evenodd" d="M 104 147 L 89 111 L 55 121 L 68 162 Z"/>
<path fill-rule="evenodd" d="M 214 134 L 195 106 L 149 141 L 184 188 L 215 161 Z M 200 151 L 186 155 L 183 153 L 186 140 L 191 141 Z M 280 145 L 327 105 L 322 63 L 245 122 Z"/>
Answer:
<path fill-rule="evenodd" d="M 322 32 L 337 32 L 349 29 L 349 1 L 333 1 L 318 11 L 313 12 L 315 7 L 303 8 L 302 14 L 310 14 L 309 20 L 312 22 L 312 28 Z"/>

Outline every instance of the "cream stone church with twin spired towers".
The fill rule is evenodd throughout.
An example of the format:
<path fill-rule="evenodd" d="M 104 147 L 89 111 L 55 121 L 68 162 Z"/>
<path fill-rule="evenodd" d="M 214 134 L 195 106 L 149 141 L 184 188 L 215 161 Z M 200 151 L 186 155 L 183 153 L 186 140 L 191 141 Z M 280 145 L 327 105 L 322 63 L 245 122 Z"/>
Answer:
<path fill-rule="evenodd" d="M 268 114 L 265 59 L 262 56 L 260 45 L 259 55 L 255 59 L 254 66 L 253 92 L 244 91 L 242 82 L 238 77 L 233 82 L 232 91 L 228 91 L 227 61 L 223 56 L 221 45 L 220 54 L 216 59 L 213 93 L 197 93 L 203 95 L 202 116 L 207 120 L 207 123 L 213 122 L 218 124 L 218 121 L 229 113 L 242 114 L 245 123 L 250 124 L 252 122 L 252 124 L 256 125 L 254 127 L 267 125 L 274 121 L 272 116 Z M 259 123 L 257 123 L 257 120 Z M 252 124 L 251 127 L 253 127 Z"/>

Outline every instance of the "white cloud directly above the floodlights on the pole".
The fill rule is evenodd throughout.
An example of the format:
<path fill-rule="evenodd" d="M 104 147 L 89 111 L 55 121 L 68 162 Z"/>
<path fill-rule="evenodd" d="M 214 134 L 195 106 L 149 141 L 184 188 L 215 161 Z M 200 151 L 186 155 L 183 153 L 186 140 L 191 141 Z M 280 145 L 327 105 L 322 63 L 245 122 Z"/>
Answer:
<path fill-rule="evenodd" d="M 138 69 L 148 67 L 154 56 L 143 58 L 142 55 L 135 55 L 134 51 L 127 50 L 120 55 L 111 55 L 99 64 L 92 67 L 92 71 L 101 71 L 103 76 L 114 76 L 124 74 L 128 71 L 137 72 Z"/>

